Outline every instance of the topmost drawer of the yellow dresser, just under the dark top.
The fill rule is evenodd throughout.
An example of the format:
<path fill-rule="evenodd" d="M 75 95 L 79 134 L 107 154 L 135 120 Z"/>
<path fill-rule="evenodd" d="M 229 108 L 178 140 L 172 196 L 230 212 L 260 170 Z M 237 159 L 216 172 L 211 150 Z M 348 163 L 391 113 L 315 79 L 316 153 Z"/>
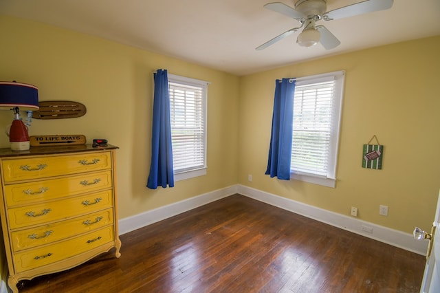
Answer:
<path fill-rule="evenodd" d="M 51 157 L 3 160 L 3 181 L 13 182 L 58 175 L 111 169 L 111 155 L 84 153 Z"/>

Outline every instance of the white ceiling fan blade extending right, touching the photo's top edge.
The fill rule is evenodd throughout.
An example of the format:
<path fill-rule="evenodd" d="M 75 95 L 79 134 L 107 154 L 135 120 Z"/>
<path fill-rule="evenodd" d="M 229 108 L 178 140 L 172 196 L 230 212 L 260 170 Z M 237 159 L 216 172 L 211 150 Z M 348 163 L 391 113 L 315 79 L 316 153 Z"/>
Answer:
<path fill-rule="evenodd" d="M 333 19 L 354 17 L 359 14 L 386 10 L 391 6 L 393 6 L 393 0 L 367 0 L 326 12 L 322 15 L 322 19 L 332 21 Z"/>

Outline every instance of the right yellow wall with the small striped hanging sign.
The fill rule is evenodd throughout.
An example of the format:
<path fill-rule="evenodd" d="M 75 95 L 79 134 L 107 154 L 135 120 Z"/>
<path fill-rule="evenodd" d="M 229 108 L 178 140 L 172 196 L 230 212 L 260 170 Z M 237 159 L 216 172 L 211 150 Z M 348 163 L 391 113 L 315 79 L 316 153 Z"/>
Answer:
<path fill-rule="evenodd" d="M 440 36 L 289 65 L 241 78 L 239 183 L 412 232 L 430 228 L 440 188 Z M 274 80 L 344 69 L 336 188 L 264 175 Z M 362 145 L 377 135 L 383 169 L 362 169 Z M 248 174 L 253 175 L 248 182 Z M 388 217 L 379 205 L 389 206 Z"/>

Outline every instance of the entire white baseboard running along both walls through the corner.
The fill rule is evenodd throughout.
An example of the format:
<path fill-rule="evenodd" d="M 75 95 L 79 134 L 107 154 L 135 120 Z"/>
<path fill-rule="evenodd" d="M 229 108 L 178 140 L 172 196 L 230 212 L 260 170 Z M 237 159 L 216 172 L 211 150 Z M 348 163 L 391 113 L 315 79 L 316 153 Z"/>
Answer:
<path fill-rule="evenodd" d="M 293 199 L 287 199 L 285 197 L 273 195 L 271 193 L 266 193 L 264 191 L 259 191 L 243 185 L 234 185 L 228 188 L 219 189 L 203 195 L 191 197 L 190 199 L 186 199 L 181 202 L 169 204 L 168 206 L 148 210 L 145 213 L 120 219 L 119 233 L 122 235 L 127 232 L 131 232 L 138 228 L 153 224 L 157 221 L 162 221 L 163 219 L 167 219 L 169 217 L 179 215 L 180 213 L 184 213 L 188 210 L 192 210 L 193 208 L 203 206 L 204 204 L 209 204 L 210 202 L 214 202 L 223 197 L 234 195 L 235 193 L 245 195 L 247 197 L 259 200 L 260 202 L 265 202 L 266 204 L 283 208 L 284 210 L 289 210 L 292 213 L 303 215 L 311 219 L 316 219 L 317 221 L 321 221 L 325 224 L 348 230 L 377 241 L 388 243 L 392 246 L 409 250 L 417 254 L 426 254 L 426 250 L 428 248 L 428 241 L 416 241 L 412 237 L 412 234 L 386 228 L 384 226 L 376 225 L 368 221 L 362 221 L 346 215 L 333 213 L 329 210 L 303 204 L 302 202 L 296 202 Z M 364 232 L 362 230 L 362 226 L 371 228 L 372 232 Z"/>

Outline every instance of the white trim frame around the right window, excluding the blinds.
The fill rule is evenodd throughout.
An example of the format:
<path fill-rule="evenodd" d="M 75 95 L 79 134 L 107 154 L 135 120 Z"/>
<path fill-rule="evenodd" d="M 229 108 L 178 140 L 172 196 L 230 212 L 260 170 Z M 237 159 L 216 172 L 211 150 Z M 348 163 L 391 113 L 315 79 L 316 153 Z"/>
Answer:
<path fill-rule="evenodd" d="M 329 145 L 329 169 L 327 170 L 327 176 L 316 175 L 314 173 L 306 173 L 300 171 L 293 171 L 292 166 L 290 169 L 290 179 L 300 180 L 303 182 L 309 182 L 312 184 L 318 184 L 322 186 L 327 186 L 335 188 L 336 186 L 336 169 L 338 165 L 338 153 L 339 153 L 339 142 L 340 142 L 340 126 L 342 118 L 342 100 L 344 98 L 344 81 L 345 81 L 345 71 L 340 70 L 337 72 L 328 72 L 325 74 L 316 74 L 313 76 L 304 76 L 296 78 L 296 85 L 319 83 L 321 81 L 329 80 L 330 78 L 335 80 L 335 94 L 336 102 L 333 103 L 333 116 L 332 124 L 335 125 L 333 131 L 333 138 L 330 140 Z"/>

